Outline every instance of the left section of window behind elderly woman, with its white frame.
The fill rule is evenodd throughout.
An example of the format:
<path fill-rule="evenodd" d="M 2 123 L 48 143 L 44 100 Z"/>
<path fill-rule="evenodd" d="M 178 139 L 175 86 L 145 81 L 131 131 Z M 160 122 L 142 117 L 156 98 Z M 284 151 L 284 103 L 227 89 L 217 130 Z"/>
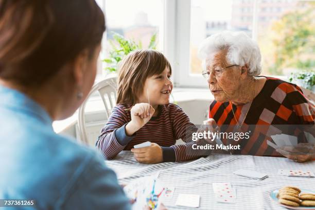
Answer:
<path fill-rule="evenodd" d="M 178 27 L 181 34 L 177 37 L 175 82 L 178 86 L 207 86 L 201 76 L 201 60 L 198 58 L 198 47 L 208 36 L 223 30 L 242 30 L 252 36 L 252 1 L 194 0 L 177 1 L 179 15 Z M 243 10 L 240 8 L 243 7 Z M 244 12 L 241 12 L 244 11 Z M 187 15 L 190 14 L 188 17 Z M 188 22 L 189 24 L 187 24 Z M 177 46 L 178 46 L 177 45 Z"/>

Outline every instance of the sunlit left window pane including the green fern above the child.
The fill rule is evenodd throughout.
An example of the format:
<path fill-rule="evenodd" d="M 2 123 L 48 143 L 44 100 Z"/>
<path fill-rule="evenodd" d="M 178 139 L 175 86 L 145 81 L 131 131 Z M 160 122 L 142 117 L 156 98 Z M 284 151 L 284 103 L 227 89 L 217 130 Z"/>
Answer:
<path fill-rule="evenodd" d="M 163 0 L 106 0 L 107 30 L 101 59 L 104 73 L 116 72 L 119 61 L 134 49 L 161 50 Z"/>

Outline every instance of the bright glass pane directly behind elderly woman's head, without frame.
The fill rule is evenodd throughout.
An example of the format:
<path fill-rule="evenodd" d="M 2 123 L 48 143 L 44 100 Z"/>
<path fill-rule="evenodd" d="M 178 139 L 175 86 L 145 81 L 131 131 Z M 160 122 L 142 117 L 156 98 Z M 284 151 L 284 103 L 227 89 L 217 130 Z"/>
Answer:
<path fill-rule="evenodd" d="M 198 46 L 208 36 L 223 30 L 245 31 L 252 36 L 253 1 L 193 0 L 190 21 L 190 73 L 201 74 Z"/>

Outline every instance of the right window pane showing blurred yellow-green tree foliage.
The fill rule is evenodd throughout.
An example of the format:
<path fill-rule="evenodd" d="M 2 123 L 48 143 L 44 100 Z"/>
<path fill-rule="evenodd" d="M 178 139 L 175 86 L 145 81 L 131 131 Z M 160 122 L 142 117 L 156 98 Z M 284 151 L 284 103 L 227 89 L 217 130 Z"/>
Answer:
<path fill-rule="evenodd" d="M 288 76 L 314 69 L 315 2 L 258 1 L 257 7 L 263 74 Z"/>

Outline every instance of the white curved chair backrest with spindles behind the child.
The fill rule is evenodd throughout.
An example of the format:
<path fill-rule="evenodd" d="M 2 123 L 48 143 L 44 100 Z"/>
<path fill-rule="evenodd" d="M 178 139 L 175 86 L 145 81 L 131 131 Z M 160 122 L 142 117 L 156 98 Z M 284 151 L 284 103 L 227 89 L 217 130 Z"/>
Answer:
<path fill-rule="evenodd" d="M 104 79 L 98 83 L 96 83 L 91 92 L 89 93 L 88 97 L 84 100 L 81 107 L 79 108 L 79 117 L 78 117 L 78 126 L 80 130 L 80 141 L 83 144 L 89 144 L 88 135 L 86 134 L 86 128 L 85 128 L 85 116 L 84 116 L 84 110 L 86 102 L 89 100 L 90 96 L 98 92 L 101 96 L 101 99 L 104 103 L 104 107 L 106 109 L 106 115 L 107 119 L 111 115 L 111 112 L 116 104 L 116 98 L 117 98 L 117 77 L 112 76 L 107 79 Z"/>

